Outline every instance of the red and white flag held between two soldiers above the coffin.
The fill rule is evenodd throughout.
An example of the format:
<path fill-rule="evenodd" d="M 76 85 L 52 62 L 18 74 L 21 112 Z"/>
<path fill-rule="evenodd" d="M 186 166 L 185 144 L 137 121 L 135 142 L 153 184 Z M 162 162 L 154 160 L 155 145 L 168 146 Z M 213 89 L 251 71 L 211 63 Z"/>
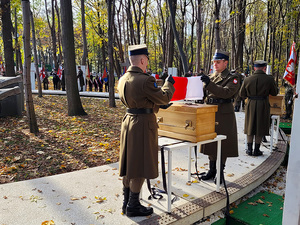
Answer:
<path fill-rule="evenodd" d="M 173 77 L 175 92 L 171 101 L 203 99 L 203 83 L 200 77 Z"/>

